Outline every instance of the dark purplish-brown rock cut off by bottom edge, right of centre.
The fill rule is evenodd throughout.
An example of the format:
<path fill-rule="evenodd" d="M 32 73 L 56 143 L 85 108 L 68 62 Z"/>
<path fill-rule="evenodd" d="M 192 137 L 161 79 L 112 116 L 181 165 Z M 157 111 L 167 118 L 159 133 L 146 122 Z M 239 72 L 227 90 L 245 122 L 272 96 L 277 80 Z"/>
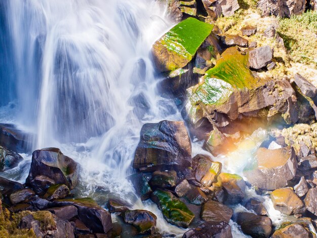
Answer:
<path fill-rule="evenodd" d="M 187 230 L 183 238 L 232 238 L 231 227 L 227 222 L 205 222 Z"/>

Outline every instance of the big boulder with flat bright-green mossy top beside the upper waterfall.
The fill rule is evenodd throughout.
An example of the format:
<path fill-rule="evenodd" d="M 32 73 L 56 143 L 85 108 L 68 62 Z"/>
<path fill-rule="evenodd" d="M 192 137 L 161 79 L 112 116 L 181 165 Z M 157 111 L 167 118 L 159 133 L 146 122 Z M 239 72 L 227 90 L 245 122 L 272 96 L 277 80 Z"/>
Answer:
<path fill-rule="evenodd" d="M 178 23 L 152 47 L 157 69 L 165 72 L 184 67 L 191 61 L 212 28 L 212 25 L 194 18 L 187 18 Z"/>

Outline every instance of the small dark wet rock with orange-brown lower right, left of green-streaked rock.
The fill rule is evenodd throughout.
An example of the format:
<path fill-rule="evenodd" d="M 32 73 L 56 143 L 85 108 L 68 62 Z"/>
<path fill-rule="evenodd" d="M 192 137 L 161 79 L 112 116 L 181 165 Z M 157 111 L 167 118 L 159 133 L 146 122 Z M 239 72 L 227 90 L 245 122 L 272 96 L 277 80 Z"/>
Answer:
<path fill-rule="evenodd" d="M 132 224 L 141 234 L 153 234 L 156 227 L 156 216 L 145 210 L 125 211 L 121 214 L 124 221 Z"/>

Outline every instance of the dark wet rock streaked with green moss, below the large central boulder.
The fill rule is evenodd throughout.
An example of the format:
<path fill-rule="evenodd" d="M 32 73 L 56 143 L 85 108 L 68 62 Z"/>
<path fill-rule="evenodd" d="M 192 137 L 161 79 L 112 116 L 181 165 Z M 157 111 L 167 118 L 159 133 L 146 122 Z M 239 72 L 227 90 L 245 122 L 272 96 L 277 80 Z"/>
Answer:
<path fill-rule="evenodd" d="M 155 190 L 151 200 L 161 209 L 164 218 L 171 224 L 187 228 L 194 214 L 173 193 L 161 189 Z"/>

